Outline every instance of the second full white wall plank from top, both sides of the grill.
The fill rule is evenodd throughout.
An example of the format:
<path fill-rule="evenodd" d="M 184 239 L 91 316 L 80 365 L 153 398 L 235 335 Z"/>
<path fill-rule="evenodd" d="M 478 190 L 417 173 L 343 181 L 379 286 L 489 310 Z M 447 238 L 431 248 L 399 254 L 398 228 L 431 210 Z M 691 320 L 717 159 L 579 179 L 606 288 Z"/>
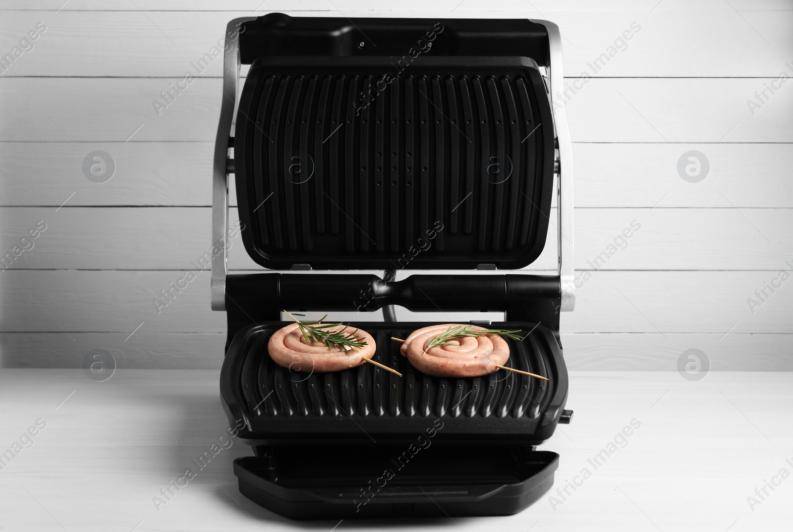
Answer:
<path fill-rule="evenodd" d="M 178 78 L 0 78 L 0 141 L 213 142 L 218 78 L 196 78 L 167 109 L 153 101 Z M 768 81 L 768 80 L 766 80 Z M 591 79 L 566 104 L 577 142 L 793 142 L 793 90 L 760 109 L 751 78 Z M 86 95 L 90 94 L 90 97 Z M 57 95 L 57 96 L 55 96 Z M 140 129 L 139 129 L 140 128 Z"/>

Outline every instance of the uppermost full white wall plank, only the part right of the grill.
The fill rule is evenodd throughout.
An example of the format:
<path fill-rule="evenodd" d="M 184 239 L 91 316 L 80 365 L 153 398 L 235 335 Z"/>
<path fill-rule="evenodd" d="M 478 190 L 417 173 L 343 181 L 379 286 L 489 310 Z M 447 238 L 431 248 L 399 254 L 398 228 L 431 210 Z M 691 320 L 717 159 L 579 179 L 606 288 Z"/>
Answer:
<path fill-rule="evenodd" d="M 793 74 L 793 67 L 785 65 L 791 60 L 793 45 L 790 18 L 780 16 L 780 12 L 737 13 L 729 6 L 719 10 L 712 4 L 696 11 L 667 2 L 655 6 L 657 10 L 652 12 L 634 7 L 619 14 L 543 11 L 561 29 L 565 77 L 731 78 L 779 77 L 780 71 Z M 772 52 L 776 47 L 780 49 Z M 722 55 L 725 49 L 730 52 Z M 730 61 L 733 53 L 741 58 L 738 63 L 763 59 L 759 59 L 760 64 L 734 64 Z M 596 63 L 599 58 L 600 63 Z"/>

